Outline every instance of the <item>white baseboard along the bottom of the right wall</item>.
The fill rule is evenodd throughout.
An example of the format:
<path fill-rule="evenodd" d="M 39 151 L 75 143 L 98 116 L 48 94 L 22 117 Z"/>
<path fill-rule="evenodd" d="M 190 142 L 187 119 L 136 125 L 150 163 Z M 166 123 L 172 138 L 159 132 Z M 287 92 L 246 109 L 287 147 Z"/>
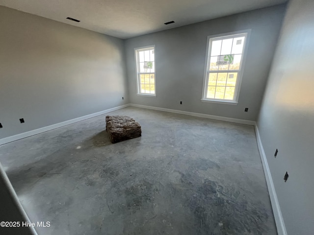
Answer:
<path fill-rule="evenodd" d="M 261 155 L 261 159 L 262 159 L 262 165 L 263 165 L 264 174 L 265 174 L 266 183 L 267 183 L 267 188 L 268 188 L 269 197 L 270 197 L 270 201 L 271 201 L 271 207 L 273 209 L 273 213 L 274 213 L 274 217 L 275 217 L 277 233 L 278 233 L 278 235 L 287 235 L 284 218 L 283 218 L 281 210 L 280 210 L 276 190 L 274 187 L 273 180 L 271 178 L 269 166 L 268 166 L 266 155 L 265 155 L 264 148 L 262 145 L 262 140 L 261 140 L 259 128 L 257 125 L 255 125 L 255 134 L 256 134 L 257 145 L 259 147 L 259 151 L 260 151 L 260 155 Z"/>

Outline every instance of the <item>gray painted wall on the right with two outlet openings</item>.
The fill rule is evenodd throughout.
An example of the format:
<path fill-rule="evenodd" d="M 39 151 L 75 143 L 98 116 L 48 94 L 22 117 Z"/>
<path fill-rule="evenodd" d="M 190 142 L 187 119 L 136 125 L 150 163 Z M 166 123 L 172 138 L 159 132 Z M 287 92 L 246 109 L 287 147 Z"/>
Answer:
<path fill-rule="evenodd" d="M 313 0 L 290 1 L 258 118 L 288 235 L 314 234 L 313 12 Z"/>

